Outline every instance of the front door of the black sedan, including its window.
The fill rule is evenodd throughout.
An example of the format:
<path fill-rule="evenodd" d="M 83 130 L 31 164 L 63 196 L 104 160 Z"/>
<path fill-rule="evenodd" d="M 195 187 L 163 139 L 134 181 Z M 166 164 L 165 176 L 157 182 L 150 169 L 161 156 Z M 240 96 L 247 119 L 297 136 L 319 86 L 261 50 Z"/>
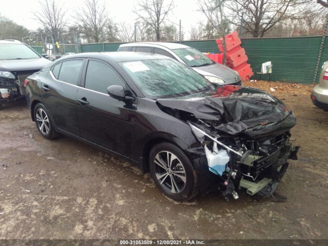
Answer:
<path fill-rule="evenodd" d="M 77 92 L 81 138 L 132 158 L 135 105 L 110 97 L 107 88 L 125 81 L 109 64 L 89 59 L 84 72 L 85 88 Z"/>

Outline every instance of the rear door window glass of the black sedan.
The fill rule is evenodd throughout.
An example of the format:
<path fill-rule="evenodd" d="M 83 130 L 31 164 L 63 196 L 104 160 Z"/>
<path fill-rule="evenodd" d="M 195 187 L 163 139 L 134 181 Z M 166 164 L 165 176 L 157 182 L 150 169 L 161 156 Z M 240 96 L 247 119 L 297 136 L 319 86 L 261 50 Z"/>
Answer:
<path fill-rule="evenodd" d="M 58 79 L 77 86 L 78 76 L 82 68 L 83 60 L 68 60 L 61 64 Z"/>

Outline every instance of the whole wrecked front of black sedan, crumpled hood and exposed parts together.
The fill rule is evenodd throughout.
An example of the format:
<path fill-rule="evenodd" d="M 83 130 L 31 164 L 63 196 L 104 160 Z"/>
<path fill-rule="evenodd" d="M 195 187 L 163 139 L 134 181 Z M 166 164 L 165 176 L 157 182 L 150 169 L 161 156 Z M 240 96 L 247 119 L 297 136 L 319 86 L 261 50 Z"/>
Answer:
<path fill-rule="evenodd" d="M 271 196 L 288 168 L 287 160 L 297 159 L 299 147 L 289 141 L 295 116 L 268 93 L 224 86 L 216 93 L 158 103 L 189 124 L 227 199 L 237 199 L 241 188 L 250 195 Z"/>

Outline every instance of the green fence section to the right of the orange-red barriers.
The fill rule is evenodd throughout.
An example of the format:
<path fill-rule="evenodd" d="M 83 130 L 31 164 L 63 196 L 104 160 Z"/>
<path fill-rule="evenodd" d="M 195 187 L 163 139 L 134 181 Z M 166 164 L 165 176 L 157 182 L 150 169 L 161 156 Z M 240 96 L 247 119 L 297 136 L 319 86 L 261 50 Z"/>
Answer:
<path fill-rule="evenodd" d="M 262 63 L 272 62 L 272 80 L 311 84 L 315 74 L 317 57 L 322 37 L 260 38 L 243 39 L 242 47 L 249 63 L 256 72 L 261 71 Z M 324 45 L 320 68 L 327 59 L 327 46 Z M 320 74 L 320 70 L 318 71 Z M 318 76 L 316 81 L 318 81 Z"/>

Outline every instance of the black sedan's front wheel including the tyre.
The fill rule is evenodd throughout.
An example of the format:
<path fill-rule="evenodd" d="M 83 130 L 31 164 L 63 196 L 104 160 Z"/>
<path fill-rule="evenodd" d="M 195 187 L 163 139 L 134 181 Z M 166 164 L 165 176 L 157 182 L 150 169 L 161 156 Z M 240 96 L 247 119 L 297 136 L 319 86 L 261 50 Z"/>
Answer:
<path fill-rule="evenodd" d="M 188 156 L 177 146 L 169 142 L 154 146 L 149 167 L 156 186 L 168 197 L 185 201 L 197 194 L 196 172 Z"/>

